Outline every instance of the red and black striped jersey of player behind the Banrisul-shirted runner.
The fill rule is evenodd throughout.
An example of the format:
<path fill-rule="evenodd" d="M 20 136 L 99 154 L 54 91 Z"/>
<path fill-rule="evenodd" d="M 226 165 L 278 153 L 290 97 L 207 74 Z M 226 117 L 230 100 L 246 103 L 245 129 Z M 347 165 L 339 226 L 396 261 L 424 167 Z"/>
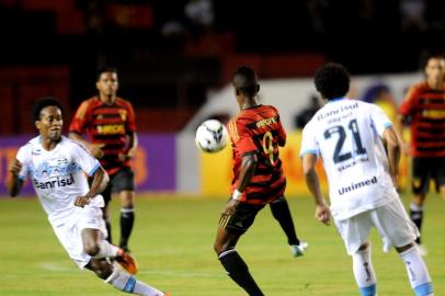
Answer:
<path fill-rule="evenodd" d="M 122 167 L 130 167 L 129 160 L 123 162 L 118 155 L 128 149 L 127 135 L 136 132 L 135 113 L 126 100 L 116 98 L 111 105 L 93 96 L 82 102 L 69 126 L 69 132 L 87 133 L 91 143 L 104 144 L 104 156 L 100 159 L 109 174 Z"/>

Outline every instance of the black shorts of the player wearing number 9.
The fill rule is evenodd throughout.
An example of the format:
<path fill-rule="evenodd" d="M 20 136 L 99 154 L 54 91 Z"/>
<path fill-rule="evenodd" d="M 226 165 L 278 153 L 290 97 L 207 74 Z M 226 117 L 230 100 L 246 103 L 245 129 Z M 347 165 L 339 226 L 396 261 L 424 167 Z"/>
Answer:
<path fill-rule="evenodd" d="M 221 215 L 219 227 L 225 228 L 229 232 L 241 236 L 252 226 L 256 214 L 263 207 L 264 205 L 240 203 L 232 215 Z"/>

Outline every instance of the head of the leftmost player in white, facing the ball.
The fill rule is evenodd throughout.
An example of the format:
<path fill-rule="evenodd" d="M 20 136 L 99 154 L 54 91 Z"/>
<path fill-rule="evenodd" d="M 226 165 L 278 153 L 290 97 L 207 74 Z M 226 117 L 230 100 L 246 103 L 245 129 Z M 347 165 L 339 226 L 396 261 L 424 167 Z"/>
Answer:
<path fill-rule="evenodd" d="M 59 101 L 52 96 L 42 98 L 33 105 L 32 118 L 41 136 L 50 140 L 60 139 L 64 125 L 61 110 Z"/>

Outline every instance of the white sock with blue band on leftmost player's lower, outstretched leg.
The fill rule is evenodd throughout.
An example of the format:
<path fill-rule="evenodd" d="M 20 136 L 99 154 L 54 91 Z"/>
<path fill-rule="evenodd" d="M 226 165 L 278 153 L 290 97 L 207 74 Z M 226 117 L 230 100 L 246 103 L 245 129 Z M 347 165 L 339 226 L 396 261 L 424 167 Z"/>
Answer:
<path fill-rule="evenodd" d="M 140 281 L 137 281 L 133 275 L 115 269 L 113 273 L 105 280 L 105 283 L 125 293 L 141 295 L 141 296 L 163 296 L 163 292 L 156 289 Z"/>

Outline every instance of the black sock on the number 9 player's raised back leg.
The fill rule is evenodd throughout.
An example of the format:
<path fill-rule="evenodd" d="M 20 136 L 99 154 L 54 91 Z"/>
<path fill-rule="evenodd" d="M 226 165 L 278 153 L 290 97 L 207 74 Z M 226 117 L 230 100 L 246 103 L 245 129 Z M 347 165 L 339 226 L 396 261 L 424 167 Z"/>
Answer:
<path fill-rule="evenodd" d="M 289 246 L 299 244 L 299 239 L 295 231 L 294 220 L 292 219 L 289 205 L 287 204 L 286 198 L 279 197 L 270 205 L 272 215 L 279 223 L 284 232 L 286 234 L 287 243 Z"/>

